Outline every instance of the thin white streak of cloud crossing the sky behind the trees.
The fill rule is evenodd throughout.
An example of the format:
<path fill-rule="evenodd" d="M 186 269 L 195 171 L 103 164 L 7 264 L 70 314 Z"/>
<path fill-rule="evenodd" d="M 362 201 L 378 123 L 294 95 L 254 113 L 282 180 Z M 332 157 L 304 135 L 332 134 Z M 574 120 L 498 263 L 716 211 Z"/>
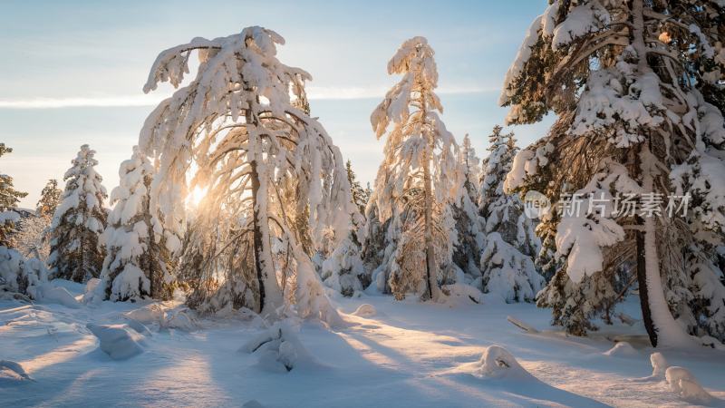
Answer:
<path fill-rule="evenodd" d="M 479 86 L 455 86 L 440 88 L 439 93 L 479 93 L 495 92 L 495 88 Z M 352 100 L 365 98 L 382 98 L 387 92 L 385 87 L 307 87 L 307 95 L 311 100 Z M 80 107 L 131 107 L 155 106 L 169 93 L 150 93 L 139 95 L 116 96 L 78 96 L 69 98 L 31 98 L 18 100 L 0 100 L 0 109 L 59 109 Z"/>

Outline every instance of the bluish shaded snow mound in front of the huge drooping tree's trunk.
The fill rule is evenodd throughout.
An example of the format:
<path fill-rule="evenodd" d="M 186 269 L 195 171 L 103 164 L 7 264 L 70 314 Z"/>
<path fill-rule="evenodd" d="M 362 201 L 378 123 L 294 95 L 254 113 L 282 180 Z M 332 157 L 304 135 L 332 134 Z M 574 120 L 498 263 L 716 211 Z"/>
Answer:
<path fill-rule="evenodd" d="M 257 365 L 275 373 L 285 373 L 293 368 L 316 365 L 288 321 L 277 322 L 252 338 L 239 351 L 259 355 Z"/>

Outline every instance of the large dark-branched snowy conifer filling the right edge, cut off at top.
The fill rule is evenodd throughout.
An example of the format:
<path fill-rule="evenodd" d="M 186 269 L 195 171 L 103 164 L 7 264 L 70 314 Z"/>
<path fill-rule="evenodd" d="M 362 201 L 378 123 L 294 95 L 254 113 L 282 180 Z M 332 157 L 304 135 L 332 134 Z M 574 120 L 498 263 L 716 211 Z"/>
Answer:
<path fill-rule="evenodd" d="M 722 307 L 716 272 L 692 261 L 711 258 L 709 247 L 725 232 L 722 201 L 712 200 L 725 189 L 722 112 L 701 92 L 709 89 L 712 100 L 711 90 L 721 88 L 722 23 L 722 5 L 705 0 L 554 0 L 508 70 L 499 101 L 511 107 L 507 121 L 535 122 L 550 111 L 559 119 L 517 154 L 507 188 L 582 201 L 578 214 L 551 221 L 565 265 L 543 297 L 572 332 L 584 333 L 603 306 L 582 311 L 575 299 L 588 296 L 571 294 L 611 291 L 622 269 L 636 271 L 652 345 L 693 343 L 681 325 L 697 314 L 686 297 L 692 290 Z M 668 196 L 688 189 L 698 209 L 670 217 Z M 614 207 L 618 195 L 638 208 Z M 701 322 L 690 320 L 687 328 L 698 333 Z"/>

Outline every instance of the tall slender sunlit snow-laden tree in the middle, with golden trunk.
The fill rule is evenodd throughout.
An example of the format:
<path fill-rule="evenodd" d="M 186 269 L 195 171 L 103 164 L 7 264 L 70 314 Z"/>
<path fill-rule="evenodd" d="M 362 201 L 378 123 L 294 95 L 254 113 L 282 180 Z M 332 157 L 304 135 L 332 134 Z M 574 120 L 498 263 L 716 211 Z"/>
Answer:
<path fill-rule="evenodd" d="M 395 248 L 378 270 L 396 297 L 415 292 L 438 300 L 440 271 L 451 267 L 456 242 L 450 206 L 460 193 L 458 146 L 438 115 L 443 107 L 434 92 L 438 71 L 428 41 L 403 43 L 388 73 L 403 77 L 372 112 L 371 123 L 378 138 L 392 123 L 374 197 Z"/>

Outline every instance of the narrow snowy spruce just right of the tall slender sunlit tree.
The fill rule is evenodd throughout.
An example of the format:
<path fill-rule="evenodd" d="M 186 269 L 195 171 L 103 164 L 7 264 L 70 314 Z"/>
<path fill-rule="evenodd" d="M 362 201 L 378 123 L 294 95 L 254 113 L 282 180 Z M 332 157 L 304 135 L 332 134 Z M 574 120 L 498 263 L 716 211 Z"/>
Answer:
<path fill-rule="evenodd" d="M 453 218 L 456 220 L 458 234 L 458 245 L 453 251 L 453 262 L 459 268 L 456 282 L 480 287 L 481 273 L 478 262 L 481 250 L 485 245 L 484 223 L 478 215 L 478 205 L 476 204 L 479 194 L 480 166 L 476 150 L 471 146 L 468 134 L 463 138 L 460 146 L 459 163 L 463 173 L 463 190 L 453 206 Z"/>

